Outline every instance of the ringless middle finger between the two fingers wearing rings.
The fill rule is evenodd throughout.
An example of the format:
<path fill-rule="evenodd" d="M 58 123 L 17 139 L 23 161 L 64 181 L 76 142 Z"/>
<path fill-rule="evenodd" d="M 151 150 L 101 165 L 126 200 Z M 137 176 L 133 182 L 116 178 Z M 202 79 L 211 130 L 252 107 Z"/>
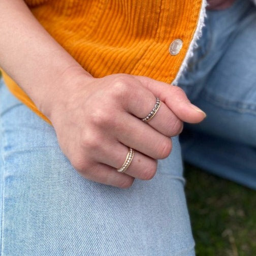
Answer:
<path fill-rule="evenodd" d="M 171 153 L 171 138 L 127 112 L 120 113 L 116 118 L 118 125 L 113 127 L 111 133 L 122 144 L 154 159 L 166 158 Z"/>

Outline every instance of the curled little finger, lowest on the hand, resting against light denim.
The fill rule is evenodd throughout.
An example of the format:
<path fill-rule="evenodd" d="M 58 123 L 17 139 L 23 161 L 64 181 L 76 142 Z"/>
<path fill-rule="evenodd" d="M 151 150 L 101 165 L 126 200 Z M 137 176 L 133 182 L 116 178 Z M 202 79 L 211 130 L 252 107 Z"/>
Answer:
<path fill-rule="evenodd" d="M 134 182 L 134 177 L 117 172 L 115 168 L 101 163 L 97 163 L 89 170 L 80 173 L 86 179 L 120 188 L 130 187 Z"/>

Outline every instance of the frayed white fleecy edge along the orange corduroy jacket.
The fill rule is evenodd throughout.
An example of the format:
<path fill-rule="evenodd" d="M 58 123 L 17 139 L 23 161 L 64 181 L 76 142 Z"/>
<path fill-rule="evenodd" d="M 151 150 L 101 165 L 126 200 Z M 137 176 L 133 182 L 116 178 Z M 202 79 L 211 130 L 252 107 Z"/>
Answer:
<path fill-rule="evenodd" d="M 253 1 L 256 1 L 256 0 L 253 0 Z M 173 85 L 178 84 L 178 80 L 179 80 L 180 76 L 182 75 L 183 71 L 185 71 L 187 68 L 188 59 L 194 55 L 194 53 L 193 53 L 194 48 L 198 47 L 197 41 L 202 36 L 202 28 L 205 26 L 206 6 L 207 5 L 208 5 L 207 0 L 202 0 L 202 6 L 201 6 L 200 15 L 199 15 L 198 24 L 197 24 L 195 34 L 193 36 L 193 39 L 190 42 L 190 45 L 188 47 L 185 58 L 182 61 L 180 69 L 179 69 L 175 79 L 171 83 Z"/>

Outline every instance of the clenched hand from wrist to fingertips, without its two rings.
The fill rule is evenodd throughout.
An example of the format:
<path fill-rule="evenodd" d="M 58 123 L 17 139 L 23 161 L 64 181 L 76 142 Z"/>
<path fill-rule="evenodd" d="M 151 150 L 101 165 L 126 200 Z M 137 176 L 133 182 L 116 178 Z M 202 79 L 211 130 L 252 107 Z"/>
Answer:
<path fill-rule="evenodd" d="M 85 178 L 121 188 L 134 178 L 149 180 L 157 159 L 167 157 L 172 136 L 183 123 L 200 122 L 205 114 L 191 105 L 177 86 L 148 77 L 114 74 L 103 78 L 75 76 L 66 82 L 48 115 L 61 150 Z M 61 92 L 60 92 L 61 93 Z M 162 104 L 145 123 L 158 97 Z M 135 149 L 125 173 L 117 172 L 129 147 Z"/>

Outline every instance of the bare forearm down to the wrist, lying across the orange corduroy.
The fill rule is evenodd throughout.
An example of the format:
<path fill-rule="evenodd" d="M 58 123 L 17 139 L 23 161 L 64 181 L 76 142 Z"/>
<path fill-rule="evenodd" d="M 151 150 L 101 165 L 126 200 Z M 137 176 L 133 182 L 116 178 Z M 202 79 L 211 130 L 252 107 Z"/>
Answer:
<path fill-rule="evenodd" d="M 63 89 L 59 78 L 70 69 L 91 76 L 47 33 L 23 0 L 0 1 L 0 24 L 0 67 L 40 110 L 49 94 Z"/>

